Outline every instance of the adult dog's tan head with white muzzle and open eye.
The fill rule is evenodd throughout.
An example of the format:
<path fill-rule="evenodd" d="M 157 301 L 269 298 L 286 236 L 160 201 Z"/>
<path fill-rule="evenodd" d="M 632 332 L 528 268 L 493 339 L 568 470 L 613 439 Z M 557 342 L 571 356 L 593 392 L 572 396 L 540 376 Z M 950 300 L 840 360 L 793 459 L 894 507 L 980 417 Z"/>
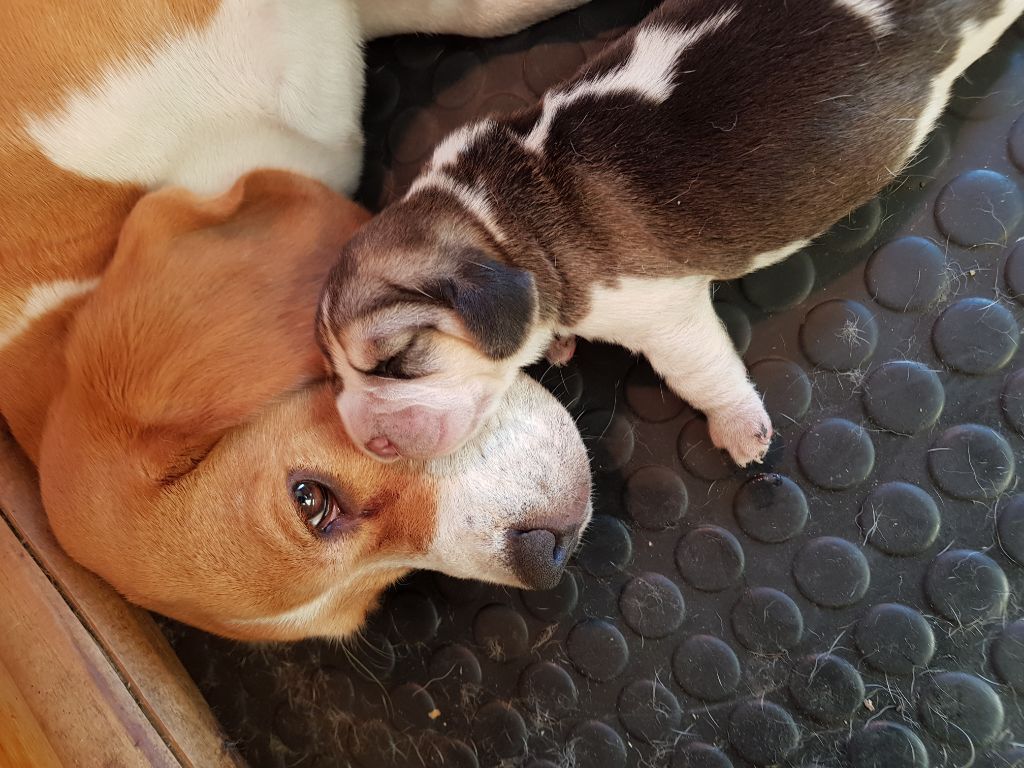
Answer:
<path fill-rule="evenodd" d="M 524 377 L 474 442 L 382 464 L 313 339 L 366 219 L 284 173 L 144 199 L 76 317 L 40 452 L 61 545 L 130 600 L 254 640 L 343 637 L 411 568 L 551 586 L 590 516 L 571 419 Z"/>

